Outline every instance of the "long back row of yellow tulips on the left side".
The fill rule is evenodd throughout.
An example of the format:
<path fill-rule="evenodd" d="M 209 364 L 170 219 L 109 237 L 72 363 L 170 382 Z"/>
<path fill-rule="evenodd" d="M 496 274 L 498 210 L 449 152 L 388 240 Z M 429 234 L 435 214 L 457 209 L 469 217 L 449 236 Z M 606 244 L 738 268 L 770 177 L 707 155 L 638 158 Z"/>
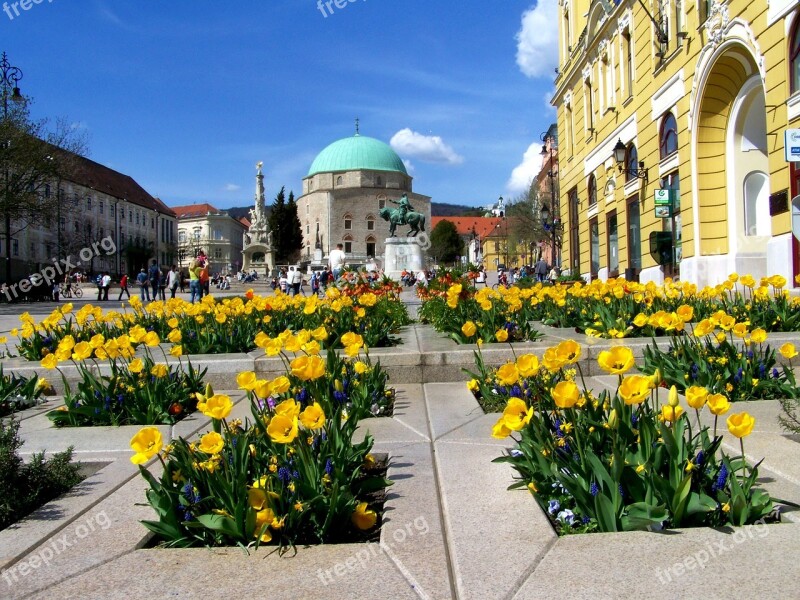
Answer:
<path fill-rule="evenodd" d="M 20 317 L 22 326 L 12 333 L 19 337 L 20 356 L 28 360 L 49 354 L 67 360 L 69 355 L 58 350 L 68 336 L 82 342 L 96 335 L 127 335 L 134 345 L 168 341 L 176 355 L 224 354 L 249 352 L 265 337 L 308 329 L 327 332 L 320 338 L 326 348 L 343 347 L 345 332 L 362 335 L 370 347 L 382 347 L 396 343 L 394 334 L 410 323 L 398 294 L 393 284 L 359 284 L 331 287 L 324 299 L 248 292 L 243 298 L 216 301 L 206 296 L 196 304 L 176 298 L 145 306 L 134 296 L 129 308 L 120 311 L 85 305 L 73 313 L 72 305 L 66 304 L 40 323 L 26 313 Z"/>

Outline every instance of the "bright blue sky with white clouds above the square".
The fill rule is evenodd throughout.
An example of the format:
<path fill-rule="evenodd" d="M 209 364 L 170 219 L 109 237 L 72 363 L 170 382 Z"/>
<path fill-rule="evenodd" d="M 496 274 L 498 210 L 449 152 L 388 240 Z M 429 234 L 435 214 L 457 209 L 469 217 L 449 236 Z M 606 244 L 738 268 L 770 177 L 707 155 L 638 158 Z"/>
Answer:
<path fill-rule="evenodd" d="M 555 120 L 555 0 L 38 1 L 0 12 L 34 116 L 172 206 L 251 203 L 259 160 L 270 199 L 297 192 L 356 116 L 415 191 L 484 205 L 521 191 Z"/>

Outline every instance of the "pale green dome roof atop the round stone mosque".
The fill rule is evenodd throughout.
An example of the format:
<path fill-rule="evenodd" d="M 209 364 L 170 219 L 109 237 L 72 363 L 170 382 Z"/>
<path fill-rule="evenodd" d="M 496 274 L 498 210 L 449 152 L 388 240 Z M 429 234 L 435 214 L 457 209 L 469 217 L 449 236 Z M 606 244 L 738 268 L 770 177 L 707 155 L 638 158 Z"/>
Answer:
<path fill-rule="evenodd" d="M 397 153 L 375 138 L 355 135 L 332 143 L 319 153 L 307 177 L 338 171 L 398 171 L 408 175 Z"/>

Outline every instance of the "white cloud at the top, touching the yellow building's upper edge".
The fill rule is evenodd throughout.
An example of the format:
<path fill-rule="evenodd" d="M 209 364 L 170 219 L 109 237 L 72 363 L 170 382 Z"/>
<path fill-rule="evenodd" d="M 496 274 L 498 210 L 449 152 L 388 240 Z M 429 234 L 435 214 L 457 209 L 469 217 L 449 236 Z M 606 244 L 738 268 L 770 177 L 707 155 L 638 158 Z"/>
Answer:
<path fill-rule="evenodd" d="M 522 13 L 517 65 L 528 77 L 555 76 L 558 66 L 558 2 L 538 0 Z"/>

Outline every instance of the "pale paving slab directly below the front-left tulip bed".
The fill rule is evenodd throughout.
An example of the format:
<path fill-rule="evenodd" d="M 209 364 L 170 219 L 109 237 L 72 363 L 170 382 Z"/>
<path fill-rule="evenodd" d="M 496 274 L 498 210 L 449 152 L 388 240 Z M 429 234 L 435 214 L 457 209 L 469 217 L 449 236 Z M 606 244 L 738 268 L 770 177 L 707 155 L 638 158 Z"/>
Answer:
<path fill-rule="evenodd" d="M 316 546 L 298 548 L 297 554 L 290 552 L 284 557 L 273 548 L 249 554 L 238 548 L 138 550 L 110 557 L 98 568 L 54 582 L 30 598 L 130 600 L 224 595 L 270 600 L 418 600 L 420 596 L 390 557 L 376 547 Z"/>

